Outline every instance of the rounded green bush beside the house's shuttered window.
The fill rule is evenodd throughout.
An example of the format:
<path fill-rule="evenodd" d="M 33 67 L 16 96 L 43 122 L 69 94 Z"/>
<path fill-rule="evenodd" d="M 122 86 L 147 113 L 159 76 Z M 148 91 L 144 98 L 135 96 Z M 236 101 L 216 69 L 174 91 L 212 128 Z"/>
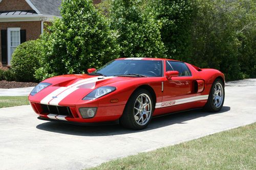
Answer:
<path fill-rule="evenodd" d="M 41 48 L 39 40 L 27 41 L 20 44 L 13 53 L 11 66 L 17 81 L 35 81 L 35 70 L 40 67 Z"/>

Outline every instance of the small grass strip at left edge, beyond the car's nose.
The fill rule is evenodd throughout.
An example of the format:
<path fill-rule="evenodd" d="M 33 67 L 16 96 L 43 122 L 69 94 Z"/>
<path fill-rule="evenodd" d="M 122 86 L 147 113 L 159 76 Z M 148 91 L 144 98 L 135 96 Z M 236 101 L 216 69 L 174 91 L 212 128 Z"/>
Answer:
<path fill-rule="evenodd" d="M 0 96 L 0 108 L 29 105 L 28 96 Z"/>

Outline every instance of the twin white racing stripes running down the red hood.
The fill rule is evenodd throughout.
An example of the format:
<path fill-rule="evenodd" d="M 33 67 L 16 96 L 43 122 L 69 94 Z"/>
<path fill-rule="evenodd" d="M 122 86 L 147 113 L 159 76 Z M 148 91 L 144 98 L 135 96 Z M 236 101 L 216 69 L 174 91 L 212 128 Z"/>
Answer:
<path fill-rule="evenodd" d="M 47 95 L 44 99 L 41 100 L 41 104 L 46 104 L 46 105 L 54 105 L 54 106 L 59 106 L 59 102 L 65 99 L 69 94 L 74 92 L 75 90 L 78 89 L 79 86 L 85 85 L 85 84 L 90 84 L 90 83 L 95 83 L 98 81 L 106 80 L 106 79 L 111 79 L 111 78 L 116 78 L 116 77 L 102 77 L 102 76 L 97 76 L 89 79 L 83 79 L 79 80 L 76 83 L 69 85 L 68 87 L 60 87 L 57 90 L 53 91 L 49 95 Z"/>

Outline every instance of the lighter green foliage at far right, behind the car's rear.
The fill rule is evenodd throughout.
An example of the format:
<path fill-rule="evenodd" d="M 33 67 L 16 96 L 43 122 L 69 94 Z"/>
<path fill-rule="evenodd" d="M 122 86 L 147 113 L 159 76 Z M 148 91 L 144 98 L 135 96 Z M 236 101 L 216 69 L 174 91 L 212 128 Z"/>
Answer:
<path fill-rule="evenodd" d="M 227 80 L 253 76 L 250 72 L 255 74 L 256 65 L 255 2 L 197 0 L 195 9 L 193 49 L 188 61 L 220 69 Z"/>

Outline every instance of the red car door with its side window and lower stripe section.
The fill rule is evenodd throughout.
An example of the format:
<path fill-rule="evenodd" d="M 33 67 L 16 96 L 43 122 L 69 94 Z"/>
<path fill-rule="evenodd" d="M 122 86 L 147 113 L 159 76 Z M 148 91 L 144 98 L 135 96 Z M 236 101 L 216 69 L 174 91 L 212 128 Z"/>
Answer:
<path fill-rule="evenodd" d="M 190 103 L 195 98 L 196 93 L 193 91 L 194 77 L 188 66 L 179 61 L 165 61 L 165 71 L 179 71 L 178 77 L 172 77 L 163 82 L 163 98 L 161 106 L 158 108 L 172 107 Z M 181 107 L 180 110 L 184 109 Z M 179 111 L 179 110 L 176 110 Z"/>

